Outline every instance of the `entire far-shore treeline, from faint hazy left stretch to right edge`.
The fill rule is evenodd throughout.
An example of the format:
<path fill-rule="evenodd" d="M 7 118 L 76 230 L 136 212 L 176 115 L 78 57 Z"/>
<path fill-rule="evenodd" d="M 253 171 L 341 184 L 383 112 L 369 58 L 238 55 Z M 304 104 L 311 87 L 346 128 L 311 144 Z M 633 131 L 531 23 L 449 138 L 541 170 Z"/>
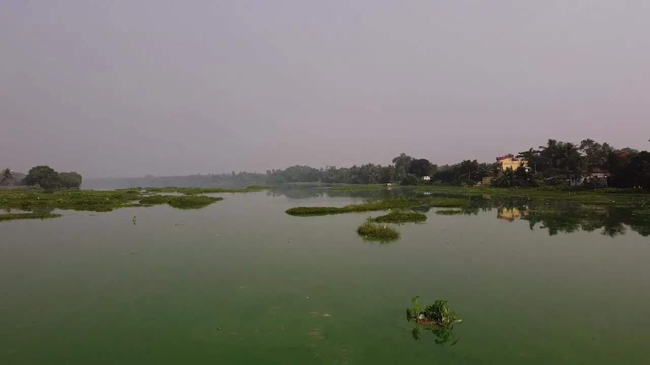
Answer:
<path fill-rule="evenodd" d="M 220 173 L 189 176 L 152 176 L 135 178 L 86 179 L 83 188 L 116 189 L 133 186 L 179 186 L 201 188 L 241 188 L 253 184 L 287 183 L 328 184 L 476 184 L 484 177 L 495 177 L 500 187 L 562 184 L 569 177 L 589 177 L 593 173 L 610 175 L 610 186 L 650 190 L 650 153 L 629 147 L 616 149 L 609 144 L 582 140 L 580 144 L 548 140 L 546 145 L 520 152 L 517 157 L 528 161 L 528 168 L 501 171 L 495 162 L 463 160 L 457 164 L 437 166 L 426 158 L 405 153 L 391 164 L 363 164 L 352 167 L 291 166 L 266 173 Z M 422 179 L 423 177 L 430 177 Z"/>

